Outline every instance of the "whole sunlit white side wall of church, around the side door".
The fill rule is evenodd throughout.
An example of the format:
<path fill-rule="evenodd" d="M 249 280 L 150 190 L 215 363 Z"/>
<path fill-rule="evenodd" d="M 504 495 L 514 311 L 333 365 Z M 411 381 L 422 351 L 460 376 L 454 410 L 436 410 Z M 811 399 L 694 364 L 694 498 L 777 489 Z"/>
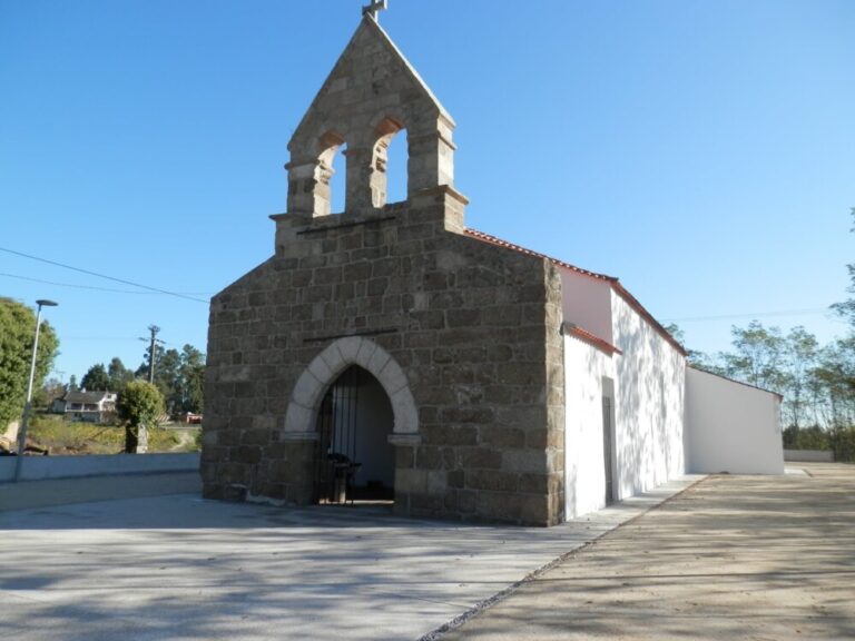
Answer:
<path fill-rule="evenodd" d="M 590 284 L 594 286 L 590 286 Z M 564 320 L 605 338 L 622 354 L 608 355 L 572 336 L 564 337 L 566 515 L 598 510 L 606 503 L 602 446 L 602 377 L 613 381 L 615 497 L 622 500 L 686 472 L 686 359 L 632 306 L 607 285 L 563 274 Z M 586 295 L 588 296 L 586 298 Z M 579 310 L 577 306 L 590 307 Z M 591 309 L 596 308 L 596 309 Z M 603 336 L 580 319 L 609 319 Z"/>

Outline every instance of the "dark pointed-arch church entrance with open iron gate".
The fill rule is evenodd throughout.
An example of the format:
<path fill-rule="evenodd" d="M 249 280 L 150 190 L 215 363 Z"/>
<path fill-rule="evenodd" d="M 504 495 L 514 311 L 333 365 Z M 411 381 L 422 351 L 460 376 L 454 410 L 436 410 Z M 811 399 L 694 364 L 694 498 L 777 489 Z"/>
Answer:
<path fill-rule="evenodd" d="M 317 415 L 317 503 L 394 500 L 393 424 L 389 396 L 371 373 L 352 365 L 335 379 Z"/>

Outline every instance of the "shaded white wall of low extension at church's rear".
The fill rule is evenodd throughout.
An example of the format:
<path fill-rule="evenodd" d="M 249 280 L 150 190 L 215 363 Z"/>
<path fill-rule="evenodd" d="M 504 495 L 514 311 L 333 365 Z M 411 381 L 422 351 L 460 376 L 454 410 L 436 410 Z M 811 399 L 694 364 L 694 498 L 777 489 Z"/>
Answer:
<path fill-rule="evenodd" d="M 691 472 L 784 473 L 776 394 L 688 367 L 686 410 Z"/>

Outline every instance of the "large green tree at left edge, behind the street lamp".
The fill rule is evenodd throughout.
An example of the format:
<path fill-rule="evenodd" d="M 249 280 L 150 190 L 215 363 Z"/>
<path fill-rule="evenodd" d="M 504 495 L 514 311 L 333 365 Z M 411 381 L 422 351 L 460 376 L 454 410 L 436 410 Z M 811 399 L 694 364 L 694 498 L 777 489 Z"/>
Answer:
<path fill-rule="evenodd" d="M 0 298 L 0 427 L 19 418 L 27 400 L 30 376 L 32 341 L 36 335 L 36 314 L 10 298 Z M 53 366 L 59 339 L 45 320 L 39 334 L 33 388 L 41 387 L 45 376 Z"/>

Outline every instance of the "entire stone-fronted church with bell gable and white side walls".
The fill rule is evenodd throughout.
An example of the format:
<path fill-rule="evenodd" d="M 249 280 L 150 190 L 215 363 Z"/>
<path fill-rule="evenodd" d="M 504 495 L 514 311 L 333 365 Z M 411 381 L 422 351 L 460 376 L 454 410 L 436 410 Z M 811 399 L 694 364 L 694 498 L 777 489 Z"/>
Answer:
<path fill-rule="evenodd" d="M 288 144 L 273 256 L 212 300 L 205 496 L 552 525 L 687 470 L 783 471 L 777 396 L 687 367 L 617 278 L 465 226 L 454 127 L 365 14 Z"/>

